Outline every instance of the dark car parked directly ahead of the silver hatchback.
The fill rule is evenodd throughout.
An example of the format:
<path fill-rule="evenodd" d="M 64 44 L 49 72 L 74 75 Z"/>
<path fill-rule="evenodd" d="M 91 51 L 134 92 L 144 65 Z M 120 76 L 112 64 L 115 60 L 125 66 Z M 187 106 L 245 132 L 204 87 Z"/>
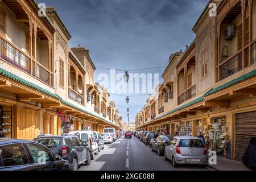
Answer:
<path fill-rule="evenodd" d="M 158 155 L 164 154 L 164 148 L 169 143 L 170 139 L 166 135 L 159 135 L 158 138 L 152 142 L 152 151 L 158 152 Z"/>

